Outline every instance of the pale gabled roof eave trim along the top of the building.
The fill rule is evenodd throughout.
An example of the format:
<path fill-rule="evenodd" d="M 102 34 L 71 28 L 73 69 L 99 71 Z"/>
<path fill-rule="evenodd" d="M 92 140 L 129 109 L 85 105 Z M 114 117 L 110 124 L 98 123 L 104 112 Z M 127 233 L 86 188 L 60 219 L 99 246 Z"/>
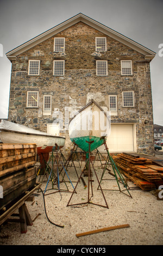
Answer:
<path fill-rule="evenodd" d="M 113 38 L 117 41 L 120 41 L 122 44 L 127 45 L 130 48 L 133 48 L 133 50 L 140 52 L 141 54 L 146 56 L 145 57 L 146 59 L 153 59 L 156 54 L 155 52 L 149 50 L 145 46 L 142 46 L 142 45 L 138 44 L 137 42 L 127 38 L 126 36 L 114 31 L 113 29 L 106 27 L 102 23 L 99 23 L 82 13 L 79 13 L 76 16 L 71 17 L 70 19 L 60 23 L 59 25 L 49 29 L 48 31 L 36 36 L 35 38 L 25 42 L 24 44 L 14 48 L 13 50 L 7 52 L 6 55 L 9 59 L 11 59 L 10 58 L 11 56 L 17 56 L 17 55 L 29 50 L 30 48 L 34 47 L 35 45 L 40 44 L 41 42 L 47 40 L 48 38 L 51 38 L 55 34 L 58 34 L 61 31 L 64 31 L 68 27 L 71 27 L 80 21 L 84 22 L 88 26 L 91 26 L 91 27 L 97 29 L 98 31 L 104 33 L 105 35 L 108 35 L 111 38 Z"/>

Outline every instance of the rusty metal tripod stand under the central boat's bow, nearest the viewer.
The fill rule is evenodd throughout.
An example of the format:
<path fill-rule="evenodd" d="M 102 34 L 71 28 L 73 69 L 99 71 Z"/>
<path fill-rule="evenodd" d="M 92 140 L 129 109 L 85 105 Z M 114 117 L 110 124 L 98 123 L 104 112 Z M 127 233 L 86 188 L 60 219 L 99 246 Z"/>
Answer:
<path fill-rule="evenodd" d="M 94 141 L 91 141 L 91 142 L 86 141 L 86 142 L 89 143 L 89 157 L 87 158 L 87 160 L 86 160 L 86 162 L 85 162 L 85 166 L 84 166 L 84 168 L 83 168 L 83 170 L 82 170 L 82 173 L 81 173 L 80 176 L 79 176 L 79 179 L 78 179 L 78 181 L 77 181 L 76 187 L 74 188 L 74 190 L 73 190 L 73 192 L 72 192 L 72 194 L 71 194 L 71 197 L 70 197 L 70 200 L 69 200 L 68 203 L 67 203 L 67 206 L 82 205 L 82 204 L 94 204 L 94 205 L 102 206 L 102 207 L 104 207 L 104 208 L 109 208 L 109 207 L 108 207 L 108 204 L 107 204 L 107 202 L 106 202 L 106 199 L 105 199 L 105 196 L 104 196 L 104 193 L 103 193 L 101 184 L 100 184 L 100 182 L 99 182 L 99 180 L 98 180 L 98 176 L 97 176 L 97 174 L 96 174 L 96 170 L 95 170 L 95 168 L 94 168 L 94 166 L 93 166 L 93 162 L 92 162 L 91 157 L 90 157 L 90 154 L 91 154 L 90 147 L 91 147 L 91 144 L 92 144 Z M 85 203 L 77 203 L 77 204 L 70 204 L 70 201 L 71 201 L 71 199 L 72 199 L 72 196 L 73 196 L 74 192 L 76 192 L 76 188 L 77 188 L 77 186 L 78 186 L 78 183 L 79 183 L 80 179 L 82 178 L 82 175 L 83 175 L 83 173 L 84 173 L 84 169 L 85 169 L 85 167 L 87 166 L 87 164 L 89 165 L 88 186 L 87 186 L 87 202 L 85 202 Z M 99 204 L 93 203 L 93 202 L 91 201 L 91 198 L 93 197 L 93 187 L 92 187 L 92 179 L 91 179 L 91 166 L 92 166 L 92 169 L 93 169 L 93 171 L 94 171 L 94 173 L 95 173 L 95 175 L 96 175 L 96 179 L 97 179 L 97 181 L 98 181 L 99 187 L 101 188 L 101 192 L 102 192 L 102 195 L 103 195 L 103 198 L 104 198 L 104 201 L 105 201 L 105 204 L 106 204 L 106 205 L 99 205 Z M 90 193 L 90 188 L 91 188 L 91 193 Z"/>

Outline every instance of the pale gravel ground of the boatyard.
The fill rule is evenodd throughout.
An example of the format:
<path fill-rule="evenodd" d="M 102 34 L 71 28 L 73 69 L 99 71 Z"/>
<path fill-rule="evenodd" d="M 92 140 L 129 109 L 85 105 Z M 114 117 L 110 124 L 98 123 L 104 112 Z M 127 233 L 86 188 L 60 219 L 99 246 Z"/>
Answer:
<path fill-rule="evenodd" d="M 78 177 L 74 169 L 68 169 L 67 173 L 73 186 L 76 186 Z M 78 173 L 80 175 L 79 171 Z M 96 173 L 100 179 L 101 167 L 96 167 Z M 71 200 L 73 187 L 66 175 L 66 182 L 60 182 L 60 192 L 57 186 L 52 188 L 51 181 L 48 185 L 47 181 L 43 182 L 42 191 L 45 191 L 47 185 L 45 193 L 47 216 L 53 223 L 64 225 L 64 228 L 48 221 L 42 193 L 36 191 L 34 203 L 26 202 L 32 220 L 37 216 L 33 225 L 28 226 L 26 234 L 21 234 L 20 223 L 3 224 L 0 231 L 0 245 L 163 245 L 163 201 L 157 200 L 149 191 L 132 190 L 131 187 L 135 185 L 133 182 L 128 182 L 131 198 L 127 191 L 124 191 L 126 193 L 124 194 L 118 190 L 114 178 L 108 180 L 112 178 L 108 172 L 105 172 L 101 183 L 109 208 L 103 207 L 106 206 L 105 200 L 102 191 L 97 190 L 98 182 L 94 172 L 93 197 L 90 202 L 98 205 L 83 204 L 87 202 L 88 190 L 82 180 L 78 183 L 77 193 L 73 194 Z M 84 180 L 87 182 L 87 177 L 84 177 Z M 66 185 L 70 192 L 67 191 Z M 121 188 L 124 189 L 122 186 Z M 69 200 L 70 204 L 82 204 L 67 206 Z M 130 227 L 76 236 L 78 233 L 121 224 L 129 224 Z"/>

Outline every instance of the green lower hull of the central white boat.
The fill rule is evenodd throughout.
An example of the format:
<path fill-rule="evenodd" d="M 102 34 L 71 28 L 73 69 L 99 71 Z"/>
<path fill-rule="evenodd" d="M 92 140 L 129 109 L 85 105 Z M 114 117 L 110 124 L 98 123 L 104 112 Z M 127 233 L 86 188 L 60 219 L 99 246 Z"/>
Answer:
<path fill-rule="evenodd" d="M 96 136 L 92 136 L 91 138 L 89 136 L 85 136 L 85 137 L 77 137 L 77 138 L 70 138 L 70 139 L 73 143 L 76 143 L 78 147 L 83 151 L 85 151 L 86 153 L 89 153 L 89 145 L 90 145 L 90 152 L 91 152 L 97 149 L 98 147 L 100 147 L 104 143 L 103 139 Z M 87 142 L 93 141 L 93 143 L 89 144 L 86 141 Z"/>

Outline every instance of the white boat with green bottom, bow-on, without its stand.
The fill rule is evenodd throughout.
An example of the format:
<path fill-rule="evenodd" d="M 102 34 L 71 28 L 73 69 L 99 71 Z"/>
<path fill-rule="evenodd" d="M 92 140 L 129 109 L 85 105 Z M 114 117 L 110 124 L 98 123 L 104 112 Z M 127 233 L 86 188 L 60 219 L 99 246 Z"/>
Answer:
<path fill-rule="evenodd" d="M 100 147 L 109 136 L 109 114 L 92 99 L 70 120 L 68 132 L 71 141 L 89 153 Z"/>

